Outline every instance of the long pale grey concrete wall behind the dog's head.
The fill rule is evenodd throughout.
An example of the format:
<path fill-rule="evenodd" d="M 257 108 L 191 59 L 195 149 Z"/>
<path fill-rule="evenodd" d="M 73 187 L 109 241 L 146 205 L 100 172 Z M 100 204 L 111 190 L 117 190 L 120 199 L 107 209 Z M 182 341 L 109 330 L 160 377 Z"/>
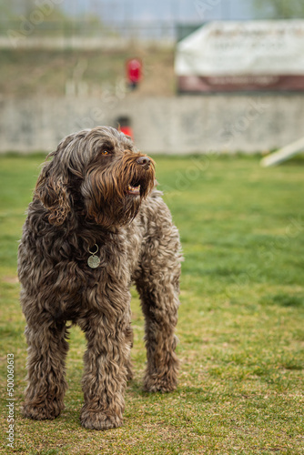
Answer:
<path fill-rule="evenodd" d="M 63 136 L 130 116 L 147 153 L 254 153 L 304 136 L 304 94 L 0 101 L 0 152 L 53 150 Z"/>

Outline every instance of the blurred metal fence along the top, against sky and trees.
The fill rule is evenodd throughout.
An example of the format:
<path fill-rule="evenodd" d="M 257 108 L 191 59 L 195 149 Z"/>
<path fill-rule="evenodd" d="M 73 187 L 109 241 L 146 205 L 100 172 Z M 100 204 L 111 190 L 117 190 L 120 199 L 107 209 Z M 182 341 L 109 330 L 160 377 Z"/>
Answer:
<path fill-rule="evenodd" d="M 178 39 L 210 20 L 289 17 L 304 0 L 0 0 L 0 35 Z"/>

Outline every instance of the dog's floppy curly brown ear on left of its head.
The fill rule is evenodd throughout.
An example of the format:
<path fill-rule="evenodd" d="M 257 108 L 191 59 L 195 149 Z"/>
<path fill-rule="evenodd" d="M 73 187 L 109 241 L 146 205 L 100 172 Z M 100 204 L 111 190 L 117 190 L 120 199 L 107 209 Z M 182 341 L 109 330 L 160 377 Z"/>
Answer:
<path fill-rule="evenodd" d="M 35 196 L 46 207 L 49 213 L 48 221 L 55 226 L 60 226 L 71 211 L 71 196 L 66 172 L 60 167 L 56 152 L 48 157 L 52 156 L 55 156 L 53 161 L 46 163 L 38 177 Z"/>

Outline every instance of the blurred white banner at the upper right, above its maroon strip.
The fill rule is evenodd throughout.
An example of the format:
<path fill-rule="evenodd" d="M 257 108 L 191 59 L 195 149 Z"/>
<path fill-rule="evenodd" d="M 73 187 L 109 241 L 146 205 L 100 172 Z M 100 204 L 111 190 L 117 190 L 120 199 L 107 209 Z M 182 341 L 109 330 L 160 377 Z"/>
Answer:
<path fill-rule="evenodd" d="M 210 22 L 177 44 L 177 76 L 303 76 L 304 20 Z"/>

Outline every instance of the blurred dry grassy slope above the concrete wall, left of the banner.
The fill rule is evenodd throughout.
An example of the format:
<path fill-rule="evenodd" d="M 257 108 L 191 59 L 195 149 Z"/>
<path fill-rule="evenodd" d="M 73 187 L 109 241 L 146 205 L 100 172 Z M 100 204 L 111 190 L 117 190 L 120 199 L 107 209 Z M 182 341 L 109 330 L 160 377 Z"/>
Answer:
<path fill-rule="evenodd" d="M 127 58 L 143 63 L 143 79 L 134 96 L 175 93 L 173 48 L 130 46 L 127 50 L 0 49 L 0 92 L 5 96 L 65 96 L 66 82 L 86 83 L 94 97 L 126 95 Z M 166 76 L 164 76 L 166 75 Z"/>

